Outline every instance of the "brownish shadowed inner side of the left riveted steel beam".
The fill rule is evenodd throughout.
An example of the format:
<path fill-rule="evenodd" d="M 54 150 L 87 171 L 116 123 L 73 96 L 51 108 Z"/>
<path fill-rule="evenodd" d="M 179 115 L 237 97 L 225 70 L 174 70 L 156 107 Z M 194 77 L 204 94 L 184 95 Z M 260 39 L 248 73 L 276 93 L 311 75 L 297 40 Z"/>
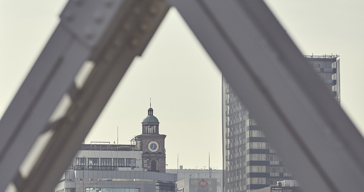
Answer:
<path fill-rule="evenodd" d="M 168 10 L 165 1 L 126 1 L 120 6 L 111 22 L 111 26 L 118 27 L 103 49 L 98 47 L 100 54 L 91 54 L 95 68 L 75 96 L 63 123 L 55 128 L 54 136 L 20 191 L 54 188 L 128 66 L 135 56 L 141 55 Z"/>

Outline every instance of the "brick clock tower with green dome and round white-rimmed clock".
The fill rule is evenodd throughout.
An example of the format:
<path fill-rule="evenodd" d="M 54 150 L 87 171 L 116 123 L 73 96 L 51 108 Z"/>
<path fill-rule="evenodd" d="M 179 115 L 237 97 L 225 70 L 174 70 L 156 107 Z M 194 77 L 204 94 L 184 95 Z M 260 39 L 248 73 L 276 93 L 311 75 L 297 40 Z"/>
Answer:
<path fill-rule="evenodd" d="M 159 134 L 159 122 L 148 109 L 148 115 L 142 121 L 142 134 L 135 137 L 137 148 L 143 151 L 142 166 L 148 171 L 166 172 L 166 135 Z"/>

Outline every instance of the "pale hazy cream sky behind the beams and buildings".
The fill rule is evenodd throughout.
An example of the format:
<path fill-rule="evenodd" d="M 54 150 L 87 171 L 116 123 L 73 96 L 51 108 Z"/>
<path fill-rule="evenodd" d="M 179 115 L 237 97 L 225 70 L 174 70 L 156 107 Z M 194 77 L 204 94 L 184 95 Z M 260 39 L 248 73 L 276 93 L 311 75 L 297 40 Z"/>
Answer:
<path fill-rule="evenodd" d="M 364 128 L 362 1 L 266 0 L 302 54 L 339 54 L 341 106 Z M 329 3 L 328 3 L 329 2 Z M 0 116 L 59 22 L 66 1 L 0 1 Z M 221 73 L 176 9 L 135 58 L 85 143 L 141 134 L 149 98 L 166 137 L 167 168 L 222 168 Z"/>

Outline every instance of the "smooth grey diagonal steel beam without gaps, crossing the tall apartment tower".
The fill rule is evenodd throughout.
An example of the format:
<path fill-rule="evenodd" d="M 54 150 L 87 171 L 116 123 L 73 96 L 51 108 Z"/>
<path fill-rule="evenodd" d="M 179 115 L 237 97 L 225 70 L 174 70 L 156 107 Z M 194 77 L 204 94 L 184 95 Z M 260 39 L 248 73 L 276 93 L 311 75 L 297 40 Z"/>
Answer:
<path fill-rule="evenodd" d="M 170 1 L 305 191 L 360 191 L 364 140 L 263 1 Z"/>

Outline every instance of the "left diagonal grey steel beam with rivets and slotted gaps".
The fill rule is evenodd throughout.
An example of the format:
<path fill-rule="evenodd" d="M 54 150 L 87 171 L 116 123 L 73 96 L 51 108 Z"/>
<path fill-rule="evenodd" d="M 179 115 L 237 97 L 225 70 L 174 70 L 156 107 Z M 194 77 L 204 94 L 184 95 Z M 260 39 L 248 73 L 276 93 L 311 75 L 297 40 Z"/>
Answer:
<path fill-rule="evenodd" d="M 166 1 L 70 1 L 46 48 L 0 122 L 0 191 L 15 180 L 18 191 L 52 191 L 135 56 L 141 55 L 169 10 Z M 75 90 L 80 66 L 95 66 Z M 72 90 L 72 93 L 68 93 Z M 49 118 L 63 95 L 67 113 Z M 54 134 L 35 166 L 19 166 L 44 130 Z M 11 164 L 12 166 L 9 166 Z"/>

